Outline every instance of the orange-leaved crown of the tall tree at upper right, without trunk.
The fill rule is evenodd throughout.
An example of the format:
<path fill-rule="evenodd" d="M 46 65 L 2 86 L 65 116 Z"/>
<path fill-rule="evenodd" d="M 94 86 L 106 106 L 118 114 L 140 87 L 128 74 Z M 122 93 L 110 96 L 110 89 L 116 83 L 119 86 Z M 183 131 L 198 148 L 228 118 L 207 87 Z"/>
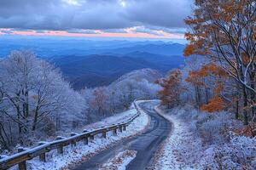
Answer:
<path fill-rule="evenodd" d="M 256 37 L 256 25 L 252 23 L 256 22 L 255 12 L 255 1 L 253 0 L 229 0 L 229 1 L 215 1 L 215 0 L 195 0 L 194 15 L 188 17 L 185 20 L 186 25 L 190 26 L 192 31 L 185 33 L 185 38 L 189 41 L 189 44 L 184 49 L 184 56 L 193 54 L 198 55 L 210 55 L 212 59 L 221 58 L 225 59 L 233 58 L 236 62 L 242 62 L 247 65 L 249 59 L 253 58 L 250 49 L 254 47 L 253 41 Z M 244 34 L 240 34 L 240 29 L 236 25 L 242 26 Z M 226 28 L 227 26 L 227 28 Z M 238 37 L 240 36 L 240 37 Z M 242 42 L 237 41 L 242 37 Z M 251 39 L 253 37 L 253 39 Z M 248 42 L 248 43 L 247 43 Z M 251 44 L 250 44 L 251 43 Z M 227 45 L 238 47 L 241 44 L 250 44 L 251 47 L 243 48 L 239 50 L 241 60 L 235 57 L 234 54 L 230 54 L 229 49 L 222 50 L 218 49 L 218 53 L 221 52 L 223 55 L 230 54 L 231 57 L 221 57 L 218 53 L 212 53 L 212 47 L 214 51 L 215 47 L 224 47 Z M 235 49 L 235 48 L 234 48 Z M 244 50 L 247 50 L 246 55 Z M 227 51 L 227 52 L 226 52 Z M 229 65 L 234 65 L 233 59 L 230 59 Z M 241 63 L 240 63 L 241 64 Z"/>

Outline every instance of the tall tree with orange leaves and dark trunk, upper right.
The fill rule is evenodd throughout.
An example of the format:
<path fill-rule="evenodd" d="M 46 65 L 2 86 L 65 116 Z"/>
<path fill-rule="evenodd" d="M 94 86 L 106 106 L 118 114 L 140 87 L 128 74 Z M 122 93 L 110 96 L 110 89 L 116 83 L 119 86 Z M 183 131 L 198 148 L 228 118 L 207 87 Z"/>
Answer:
<path fill-rule="evenodd" d="M 255 117 L 256 3 L 254 0 L 195 0 L 184 55 L 207 56 L 241 87 L 244 122 Z"/>

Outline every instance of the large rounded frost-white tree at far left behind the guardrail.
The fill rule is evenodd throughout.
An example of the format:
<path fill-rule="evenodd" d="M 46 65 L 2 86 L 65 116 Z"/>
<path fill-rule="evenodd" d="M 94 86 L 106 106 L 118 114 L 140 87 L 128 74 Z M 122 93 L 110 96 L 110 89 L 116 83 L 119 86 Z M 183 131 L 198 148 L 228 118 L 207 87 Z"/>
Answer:
<path fill-rule="evenodd" d="M 51 135 L 61 128 L 61 122 L 75 120 L 84 111 L 84 99 L 64 81 L 61 72 L 30 51 L 15 51 L 2 60 L 0 82 L 4 117 L 0 123 L 3 129 L 4 120 L 10 121 L 12 129 L 7 136 L 18 137 L 13 142 L 23 142 L 25 135 L 35 131 Z"/>

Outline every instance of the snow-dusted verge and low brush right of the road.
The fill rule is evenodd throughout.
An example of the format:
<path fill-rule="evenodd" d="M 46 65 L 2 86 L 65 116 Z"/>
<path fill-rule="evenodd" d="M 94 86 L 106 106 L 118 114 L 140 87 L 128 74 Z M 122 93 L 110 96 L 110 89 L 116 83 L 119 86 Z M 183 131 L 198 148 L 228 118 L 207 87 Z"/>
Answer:
<path fill-rule="evenodd" d="M 230 133 L 231 127 L 241 127 L 231 114 L 211 115 L 188 106 L 158 111 L 173 127 L 155 169 L 256 169 L 256 138 Z"/>

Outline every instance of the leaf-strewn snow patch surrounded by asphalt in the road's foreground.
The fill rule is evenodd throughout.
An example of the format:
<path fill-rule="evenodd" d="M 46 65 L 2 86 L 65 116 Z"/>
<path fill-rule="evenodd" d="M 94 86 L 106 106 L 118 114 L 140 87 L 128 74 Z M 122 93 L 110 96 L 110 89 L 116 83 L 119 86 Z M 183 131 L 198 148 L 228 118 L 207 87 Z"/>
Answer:
<path fill-rule="evenodd" d="M 108 162 L 104 163 L 100 170 L 125 170 L 125 167 L 136 157 L 136 150 L 125 150 L 119 152 L 117 156 L 114 156 Z"/>

